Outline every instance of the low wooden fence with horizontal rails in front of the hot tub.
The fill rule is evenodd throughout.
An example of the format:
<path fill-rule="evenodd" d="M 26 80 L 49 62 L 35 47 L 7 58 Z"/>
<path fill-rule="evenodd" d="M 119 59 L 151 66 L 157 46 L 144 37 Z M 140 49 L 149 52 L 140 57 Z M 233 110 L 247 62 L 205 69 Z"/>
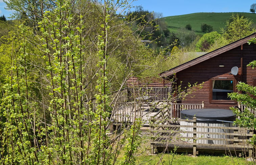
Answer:
<path fill-rule="evenodd" d="M 179 124 L 180 123 L 180 124 Z M 226 127 L 225 127 L 226 126 Z M 223 150 L 246 154 L 252 156 L 253 146 L 250 138 L 253 136 L 253 129 L 239 127 L 216 127 L 216 125 L 202 124 L 202 121 L 193 119 L 164 119 L 152 118 L 150 125 L 152 137 L 152 153 L 154 147 L 187 148 L 193 151 L 198 150 Z"/>

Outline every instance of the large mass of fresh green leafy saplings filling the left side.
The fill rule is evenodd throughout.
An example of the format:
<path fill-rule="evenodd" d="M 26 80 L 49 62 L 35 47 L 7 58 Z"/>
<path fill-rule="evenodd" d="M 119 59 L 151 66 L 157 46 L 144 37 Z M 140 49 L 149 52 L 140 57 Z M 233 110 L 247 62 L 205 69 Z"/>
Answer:
<path fill-rule="evenodd" d="M 140 50 L 144 50 L 113 13 L 114 6 L 128 2 L 72 2 L 56 1 L 36 29 L 24 22 L 4 36 L 0 46 L 1 164 L 107 165 L 115 164 L 120 150 L 129 151 L 128 162 L 135 159 L 140 123 L 127 132 L 130 128 L 124 127 L 111 139 L 107 130 L 111 84 L 122 77 L 118 85 L 122 88 L 138 68 L 133 64 L 140 65 Z M 110 71 L 108 62 L 117 63 L 120 72 Z M 86 101 L 92 97 L 97 105 Z M 126 147 L 125 133 L 130 136 Z"/>

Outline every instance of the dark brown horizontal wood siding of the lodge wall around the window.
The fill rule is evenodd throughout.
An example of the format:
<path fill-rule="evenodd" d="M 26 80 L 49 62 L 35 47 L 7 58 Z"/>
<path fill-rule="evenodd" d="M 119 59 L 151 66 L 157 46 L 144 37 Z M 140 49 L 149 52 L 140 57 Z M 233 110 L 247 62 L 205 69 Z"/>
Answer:
<path fill-rule="evenodd" d="M 242 49 L 242 50 L 241 50 Z M 241 76 L 241 57 L 242 57 L 242 76 Z M 253 76 L 256 76 L 256 68 L 246 66 L 249 62 L 256 60 L 256 47 L 254 44 L 244 44 L 242 47 L 236 47 L 230 51 L 219 54 L 201 63 L 195 64 L 177 73 L 177 78 L 182 81 L 182 87 L 186 84 L 203 83 L 203 88 L 195 91 L 186 97 L 182 103 L 202 103 L 204 101 L 205 108 L 223 108 L 228 109 L 236 103 L 211 103 L 210 101 L 210 80 L 219 77 L 232 78 L 235 81 L 243 81 L 250 85 L 254 84 Z M 225 67 L 219 67 L 224 65 Z M 239 68 L 238 75 L 230 74 L 231 68 L 237 66 Z"/>

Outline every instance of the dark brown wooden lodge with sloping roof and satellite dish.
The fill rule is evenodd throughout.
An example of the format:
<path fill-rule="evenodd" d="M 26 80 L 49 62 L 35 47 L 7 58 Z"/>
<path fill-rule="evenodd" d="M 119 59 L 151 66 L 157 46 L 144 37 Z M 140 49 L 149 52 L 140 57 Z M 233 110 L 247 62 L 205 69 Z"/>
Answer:
<path fill-rule="evenodd" d="M 222 48 L 197 57 L 191 61 L 160 73 L 160 77 L 170 79 L 176 77 L 178 82 L 182 81 L 185 87 L 187 83 L 202 83 L 203 88 L 195 91 L 182 104 L 202 103 L 205 108 L 229 109 L 237 103 L 227 97 L 227 93 L 236 92 L 235 85 L 239 82 L 246 82 L 249 85 L 256 84 L 256 69 L 247 66 L 256 60 L 256 45 L 249 45 L 250 38 L 256 37 L 253 33 L 241 38 Z M 231 68 L 237 66 L 237 75 L 231 74 Z M 236 67 L 234 67 L 235 69 Z"/>

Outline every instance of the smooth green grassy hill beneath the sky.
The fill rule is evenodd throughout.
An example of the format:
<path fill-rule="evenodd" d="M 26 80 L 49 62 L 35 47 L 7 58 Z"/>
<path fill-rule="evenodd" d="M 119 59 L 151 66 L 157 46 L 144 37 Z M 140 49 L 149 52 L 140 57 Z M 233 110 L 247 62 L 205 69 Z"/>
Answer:
<path fill-rule="evenodd" d="M 234 14 L 243 14 L 245 17 L 252 20 L 254 26 L 256 25 L 256 13 L 246 12 L 233 12 Z M 169 16 L 163 19 L 167 23 L 167 27 L 170 31 L 176 32 L 179 28 L 185 27 L 187 24 L 192 26 L 197 34 L 204 34 L 201 31 L 201 24 L 213 26 L 213 30 L 219 32 L 220 28 L 225 28 L 226 21 L 229 20 L 232 12 L 198 12 L 180 16 Z"/>

